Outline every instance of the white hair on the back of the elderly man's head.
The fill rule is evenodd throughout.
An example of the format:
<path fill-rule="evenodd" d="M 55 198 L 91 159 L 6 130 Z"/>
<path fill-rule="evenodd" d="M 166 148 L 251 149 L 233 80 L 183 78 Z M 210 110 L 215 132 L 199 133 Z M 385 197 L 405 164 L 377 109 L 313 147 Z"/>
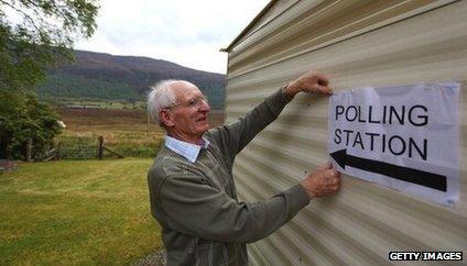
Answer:
<path fill-rule="evenodd" d="M 161 80 L 152 86 L 151 91 L 148 93 L 148 111 L 154 121 L 161 126 L 164 126 L 164 124 L 162 123 L 159 113 L 161 112 L 161 109 L 175 104 L 176 97 L 171 85 L 177 81 L 184 80 Z"/>

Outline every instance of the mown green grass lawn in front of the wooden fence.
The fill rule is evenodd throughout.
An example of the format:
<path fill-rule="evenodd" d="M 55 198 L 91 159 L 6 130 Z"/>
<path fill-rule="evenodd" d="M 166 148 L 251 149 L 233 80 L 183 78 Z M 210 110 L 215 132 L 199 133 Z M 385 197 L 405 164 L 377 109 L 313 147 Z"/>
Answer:
<path fill-rule="evenodd" d="M 21 163 L 0 174 L 0 265 L 122 265 L 162 247 L 152 159 Z"/>

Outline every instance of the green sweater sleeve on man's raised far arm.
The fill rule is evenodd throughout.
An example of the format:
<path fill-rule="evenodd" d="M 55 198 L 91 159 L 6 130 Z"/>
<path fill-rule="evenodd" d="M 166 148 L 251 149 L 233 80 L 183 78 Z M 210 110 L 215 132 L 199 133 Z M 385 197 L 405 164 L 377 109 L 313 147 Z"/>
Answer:
<path fill-rule="evenodd" d="M 238 121 L 209 130 L 208 136 L 218 143 L 222 154 L 227 156 L 231 164 L 235 156 L 260 131 L 273 122 L 291 100 L 292 97 L 284 95 L 280 89 Z"/>

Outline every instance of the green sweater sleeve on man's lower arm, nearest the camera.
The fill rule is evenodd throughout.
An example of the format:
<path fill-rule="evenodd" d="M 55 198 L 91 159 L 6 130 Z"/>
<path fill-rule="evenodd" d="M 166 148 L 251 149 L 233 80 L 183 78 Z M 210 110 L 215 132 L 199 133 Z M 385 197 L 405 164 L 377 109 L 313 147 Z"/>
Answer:
<path fill-rule="evenodd" d="M 169 176 L 159 191 L 171 228 L 219 242 L 265 237 L 309 202 L 300 184 L 261 202 L 237 202 L 196 175 Z"/>

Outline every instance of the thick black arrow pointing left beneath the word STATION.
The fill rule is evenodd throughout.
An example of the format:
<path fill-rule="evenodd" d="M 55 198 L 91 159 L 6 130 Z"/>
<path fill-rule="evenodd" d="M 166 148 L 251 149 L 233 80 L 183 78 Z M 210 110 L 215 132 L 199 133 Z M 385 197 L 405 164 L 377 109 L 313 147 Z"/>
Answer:
<path fill-rule="evenodd" d="M 330 156 L 340 165 L 344 169 L 347 166 L 359 168 L 367 171 L 378 173 L 384 176 L 389 176 L 399 180 L 417 184 L 424 187 L 433 188 L 436 190 L 445 191 L 447 189 L 446 177 L 408 168 L 398 165 L 391 165 L 384 162 L 360 158 L 347 154 L 347 149 L 340 149 L 330 154 Z"/>

